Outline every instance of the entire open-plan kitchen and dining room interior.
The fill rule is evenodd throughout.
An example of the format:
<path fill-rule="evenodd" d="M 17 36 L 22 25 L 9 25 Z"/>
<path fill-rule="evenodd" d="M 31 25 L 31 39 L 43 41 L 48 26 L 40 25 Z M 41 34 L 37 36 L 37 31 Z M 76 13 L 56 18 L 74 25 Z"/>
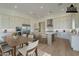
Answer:
<path fill-rule="evenodd" d="M 0 3 L 0 56 L 79 56 L 79 3 Z"/>

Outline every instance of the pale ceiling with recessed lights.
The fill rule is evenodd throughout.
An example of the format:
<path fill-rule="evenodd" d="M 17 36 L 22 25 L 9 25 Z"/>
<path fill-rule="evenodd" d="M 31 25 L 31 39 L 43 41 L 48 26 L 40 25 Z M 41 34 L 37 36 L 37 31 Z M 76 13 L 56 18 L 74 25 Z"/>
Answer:
<path fill-rule="evenodd" d="M 71 4 L 71 3 L 70 3 Z M 49 15 L 66 13 L 68 3 L 0 3 L 0 8 L 6 8 L 21 12 L 33 18 L 39 19 Z M 79 4 L 74 4 L 79 10 Z"/>

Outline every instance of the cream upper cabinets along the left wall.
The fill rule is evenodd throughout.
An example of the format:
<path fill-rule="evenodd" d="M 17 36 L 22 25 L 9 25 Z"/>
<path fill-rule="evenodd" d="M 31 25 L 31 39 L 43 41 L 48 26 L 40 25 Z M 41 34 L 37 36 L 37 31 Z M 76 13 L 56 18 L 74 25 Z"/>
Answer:
<path fill-rule="evenodd" d="M 0 28 L 16 28 L 22 24 L 30 24 L 30 19 L 19 16 L 0 15 Z"/>

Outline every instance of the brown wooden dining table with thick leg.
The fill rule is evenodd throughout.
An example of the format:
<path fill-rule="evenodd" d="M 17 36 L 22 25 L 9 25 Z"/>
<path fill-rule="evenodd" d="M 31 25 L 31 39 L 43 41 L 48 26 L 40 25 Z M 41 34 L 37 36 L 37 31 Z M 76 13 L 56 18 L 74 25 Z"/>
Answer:
<path fill-rule="evenodd" d="M 28 44 L 28 38 L 23 36 L 16 36 L 17 38 L 14 39 L 13 36 L 8 36 L 5 38 L 5 42 L 13 48 L 12 56 L 16 56 L 16 47 L 18 45 Z"/>

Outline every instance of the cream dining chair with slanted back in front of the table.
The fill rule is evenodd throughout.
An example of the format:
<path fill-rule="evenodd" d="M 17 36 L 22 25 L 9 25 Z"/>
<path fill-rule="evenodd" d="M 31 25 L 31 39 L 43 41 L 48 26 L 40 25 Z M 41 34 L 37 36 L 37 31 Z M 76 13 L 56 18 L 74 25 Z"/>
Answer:
<path fill-rule="evenodd" d="M 39 40 L 32 42 L 32 43 L 28 44 L 28 46 L 18 49 L 18 52 L 23 56 L 35 55 L 35 52 L 37 51 L 38 42 L 39 42 Z M 36 53 L 36 55 L 37 55 L 37 53 Z"/>

